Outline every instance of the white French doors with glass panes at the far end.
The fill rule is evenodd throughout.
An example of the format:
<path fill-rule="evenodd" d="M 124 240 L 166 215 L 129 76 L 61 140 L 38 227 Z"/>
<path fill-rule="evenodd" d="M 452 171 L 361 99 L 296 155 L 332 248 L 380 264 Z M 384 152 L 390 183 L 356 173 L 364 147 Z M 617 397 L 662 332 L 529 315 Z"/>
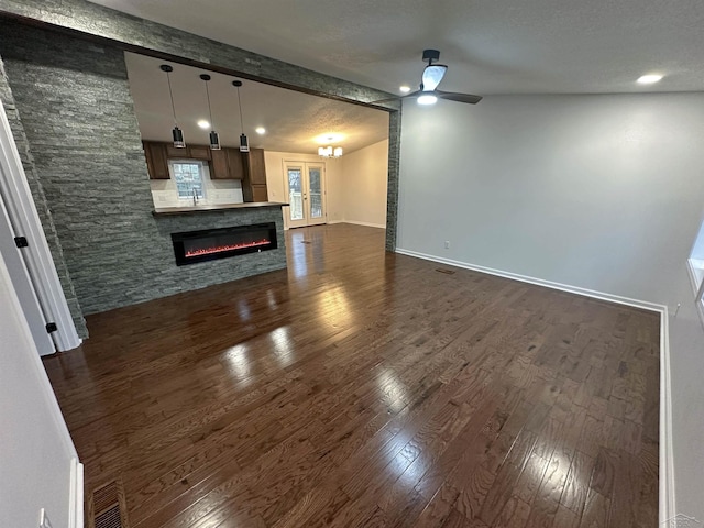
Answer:
<path fill-rule="evenodd" d="M 289 228 L 326 223 L 324 174 L 323 163 L 285 162 Z"/>

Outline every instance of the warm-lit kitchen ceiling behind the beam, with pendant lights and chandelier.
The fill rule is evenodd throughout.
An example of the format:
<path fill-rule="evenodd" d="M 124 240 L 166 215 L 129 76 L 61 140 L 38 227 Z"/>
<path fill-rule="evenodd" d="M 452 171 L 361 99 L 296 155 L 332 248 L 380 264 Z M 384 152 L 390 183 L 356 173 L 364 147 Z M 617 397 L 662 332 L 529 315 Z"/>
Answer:
<path fill-rule="evenodd" d="M 239 145 L 240 114 L 238 112 L 235 77 L 206 72 L 180 64 L 165 63 L 133 53 L 125 53 L 130 90 L 134 99 L 142 138 L 170 141 L 174 118 L 168 97 L 166 74 L 162 64 L 172 64 L 170 74 L 176 117 L 187 143 L 207 144 L 209 130 L 196 123 L 210 120 L 205 82 L 200 74 L 208 73 L 208 84 L 215 129 L 226 146 Z M 371 145 L 388 136 L 388 113 L 382 110 L 334 101 L 321 97 L 286 90 L 242 79 L 242 117 L 250 145 L 268 151 L 317 153 L 316 138 L 321 134 L 343 134 L 334 142 L 345 152 Z M 254 129 L 264 127 L 265 135 Z"/>

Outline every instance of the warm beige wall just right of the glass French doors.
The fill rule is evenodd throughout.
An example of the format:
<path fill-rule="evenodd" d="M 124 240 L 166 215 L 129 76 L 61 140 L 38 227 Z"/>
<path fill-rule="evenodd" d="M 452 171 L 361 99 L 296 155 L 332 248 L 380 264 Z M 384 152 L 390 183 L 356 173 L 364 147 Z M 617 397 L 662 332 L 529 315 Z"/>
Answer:
<path fill-rule="evenodd" d="M 385 228 L 388 140 L 345 154 L 341 161 L 343 220 Z"/>

